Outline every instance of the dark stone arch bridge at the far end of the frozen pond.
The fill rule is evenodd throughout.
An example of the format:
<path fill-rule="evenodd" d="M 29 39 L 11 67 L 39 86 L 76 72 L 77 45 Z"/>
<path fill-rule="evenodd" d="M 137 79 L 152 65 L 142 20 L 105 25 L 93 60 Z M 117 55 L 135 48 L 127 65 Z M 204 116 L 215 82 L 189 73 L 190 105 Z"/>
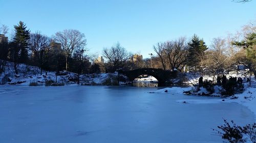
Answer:
<path fill-rule="evenodd" d="M 130 81 L 133 81 L 135 78 L 143 74 L 154 76 L 158 80 L 158 85 L 160 87 L 170 83 L 169 79 L 177 77 L 177 71 L 165 71 L 162 69 L 154 68 L 143 68 L 130 71 L 119 70 L 119 73 L 127 76 Z"/>

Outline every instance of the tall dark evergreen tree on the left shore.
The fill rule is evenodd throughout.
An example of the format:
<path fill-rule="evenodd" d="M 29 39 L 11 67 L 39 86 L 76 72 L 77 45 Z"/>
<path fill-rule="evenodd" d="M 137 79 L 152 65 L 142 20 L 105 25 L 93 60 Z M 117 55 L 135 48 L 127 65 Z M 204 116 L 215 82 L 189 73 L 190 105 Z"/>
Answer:
<path fill-rule="evenodd" d="M 27 26 L 24 22 L 19 21 L 18 25 L 14 25 L 15 37 L 14 42 L 16 43 L 17 50 L 19 53 L 19 62 L 26 63 L 28 60 L 28 40 L 30 31 L 27 30 Z"/>

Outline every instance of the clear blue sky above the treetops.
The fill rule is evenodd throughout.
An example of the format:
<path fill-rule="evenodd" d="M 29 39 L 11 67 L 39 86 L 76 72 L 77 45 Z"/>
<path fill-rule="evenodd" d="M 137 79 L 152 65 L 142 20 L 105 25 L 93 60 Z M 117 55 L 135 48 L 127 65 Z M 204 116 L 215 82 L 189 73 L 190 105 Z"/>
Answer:
<path fill-rule="evenodd" d="M 256 0 L 0 0 L 0 11 L 0 24 L 10 30 L 20 20 L 31 32 L 48 36 L 77 29 L 86 35 L 91 53 L 100 55 L 103 47 L 119 41 L 148 58 L 160 41 L 197 34 L 209 45 L 212 38 L 240 30 L 256 19 Z"/>

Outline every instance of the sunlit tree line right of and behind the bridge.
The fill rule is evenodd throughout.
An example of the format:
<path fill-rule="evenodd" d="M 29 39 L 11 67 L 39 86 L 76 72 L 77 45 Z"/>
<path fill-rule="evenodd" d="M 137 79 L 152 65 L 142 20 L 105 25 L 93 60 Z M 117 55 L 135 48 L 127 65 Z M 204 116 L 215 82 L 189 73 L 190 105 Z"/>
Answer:
<path fill-rule="evenodd" d="M 195 72 L 200 76 L 218 75 L 243 69 L 250 80 L 256 75 L 256 26 L 243 26 L 236 35 L 214 38 L 207 46 L 197 35 L 186 41 L 181 37 L 172 41 L 158 42 L 153 46 L 156 56 L 154 68 Z"/>

